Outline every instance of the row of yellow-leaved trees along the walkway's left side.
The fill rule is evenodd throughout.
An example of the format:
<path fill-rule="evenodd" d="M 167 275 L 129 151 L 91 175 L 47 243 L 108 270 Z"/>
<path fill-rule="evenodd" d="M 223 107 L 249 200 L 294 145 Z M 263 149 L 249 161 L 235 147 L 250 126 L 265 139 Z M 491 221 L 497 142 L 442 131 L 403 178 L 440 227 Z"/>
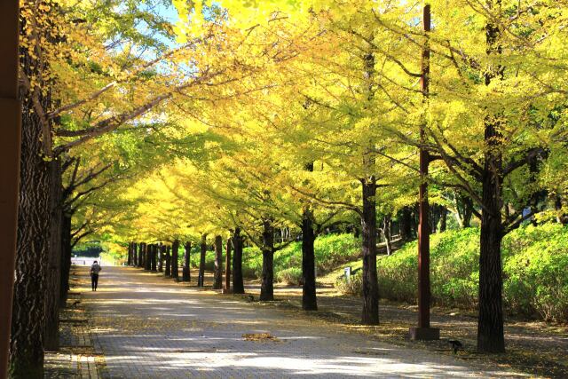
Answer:
<path fill-rule="evenodd" d="M 43 351 L 59 344 L 70 257 L 105 234 L 106 215 L 128 212 L 112 193 L 204 139 L 179 136 L 179 101 L 218 97 L 249 75 L 223 46 L 242 36 L 209 32 L 176 43 L 168 1 L 20 4 L 22 146 L 10 375 L 43 377 Z M 227 50 L 231 50 L 227 48 Z M 216 51 L 211 54 L 211 51 Z M 207 57 L 202 61 L 202 57 Z M 156 147 L 161 144 L 160 147 Z M 143 152 L 143 154 L 140 154 Z M 197 157 L 199 154 L 195 154 Z"/>

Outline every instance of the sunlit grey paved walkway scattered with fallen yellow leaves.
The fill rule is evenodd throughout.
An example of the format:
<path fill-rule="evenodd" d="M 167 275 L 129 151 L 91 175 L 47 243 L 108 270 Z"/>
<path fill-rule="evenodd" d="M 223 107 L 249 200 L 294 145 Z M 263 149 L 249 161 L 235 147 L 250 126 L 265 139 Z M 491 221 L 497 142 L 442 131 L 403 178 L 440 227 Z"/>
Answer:
<path fill-rule="evenodd" d="M 99 283 L 83 302 L 112 378 L 515 376 L 139 269 L 106 267 Z"/>

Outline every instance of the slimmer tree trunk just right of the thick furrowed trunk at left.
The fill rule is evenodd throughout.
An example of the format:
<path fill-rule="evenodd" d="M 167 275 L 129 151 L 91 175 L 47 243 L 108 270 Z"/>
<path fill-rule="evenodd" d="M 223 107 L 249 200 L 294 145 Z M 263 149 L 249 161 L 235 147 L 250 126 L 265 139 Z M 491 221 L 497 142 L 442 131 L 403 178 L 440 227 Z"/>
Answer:
<path fill-rule="evenodd" d="M 48 351 L 59 350 L 59 292 L 61 285 L 61 227 L 63 221 L 62 177 L 59 160 L 50 162 L 51 223 L 48 257 L 47 288 L 45 293 L 45 343 Z"/>

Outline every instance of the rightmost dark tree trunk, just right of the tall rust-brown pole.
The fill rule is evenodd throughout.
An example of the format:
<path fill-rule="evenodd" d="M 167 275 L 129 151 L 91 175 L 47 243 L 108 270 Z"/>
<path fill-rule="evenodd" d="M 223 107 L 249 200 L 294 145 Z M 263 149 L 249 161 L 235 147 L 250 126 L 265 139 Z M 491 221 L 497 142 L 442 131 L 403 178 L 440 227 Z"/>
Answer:
<path fill-rule="evenodd" d="M 505 351 L 503 335 L 501 240 L 501 154 L 495 148 L 501 134 L 493 121 L 485 122 L 485 152 L 482 183 L 481 236 L 479 255 L 479 314 L 477 323 L 477 351 Z"/>

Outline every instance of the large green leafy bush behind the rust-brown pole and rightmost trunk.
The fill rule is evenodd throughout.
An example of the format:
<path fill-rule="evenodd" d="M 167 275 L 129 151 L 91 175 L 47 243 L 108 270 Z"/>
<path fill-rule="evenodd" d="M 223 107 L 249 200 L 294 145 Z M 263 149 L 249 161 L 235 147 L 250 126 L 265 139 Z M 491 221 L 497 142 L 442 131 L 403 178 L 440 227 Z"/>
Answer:
<path fill-rule="evenodd" d="M 528 225 L 502 243 L 503 301 L 508 312 L 544 320 L 568 320 L 568 228 Z M 430 282 L 436 304 L 475 308 L 479 282 L 479 230 L 433 234 Z M 382 297 L 415 303 L 416 242 L 378 263 Z"/>

